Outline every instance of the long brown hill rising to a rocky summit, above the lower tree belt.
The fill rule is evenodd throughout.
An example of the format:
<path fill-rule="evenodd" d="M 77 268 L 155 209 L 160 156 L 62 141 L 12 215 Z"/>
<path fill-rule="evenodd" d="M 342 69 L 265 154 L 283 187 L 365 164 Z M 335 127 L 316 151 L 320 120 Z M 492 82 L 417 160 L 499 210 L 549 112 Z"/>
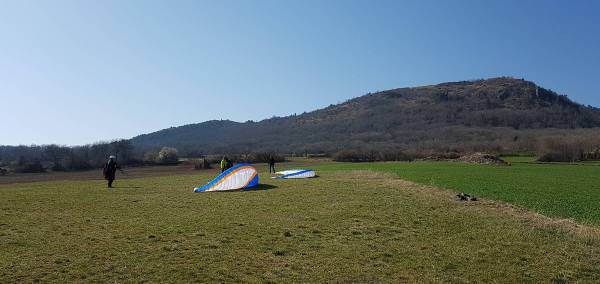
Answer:
<path fill-rule="evenodd" d="M 393 89 L 260 122 L 207 121 L 131 141 L 140 151 L 173 146 L 184 154 L 371 148 L 520 151 L 543 135 L 593 127 L 600 127 L 599 109 L 529 81 L 501 77 Z"/>

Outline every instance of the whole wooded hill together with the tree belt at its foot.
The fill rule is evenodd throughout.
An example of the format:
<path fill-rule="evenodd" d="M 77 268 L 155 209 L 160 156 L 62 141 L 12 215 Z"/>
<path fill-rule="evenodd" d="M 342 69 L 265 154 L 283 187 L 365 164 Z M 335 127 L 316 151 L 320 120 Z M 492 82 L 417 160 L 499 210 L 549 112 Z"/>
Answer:
<path fill-rule="evenodd" d="M 108 155 L 125 164 L 165 163 L 161 149 L 173 157 L 310 153 L 373 161 L 483 151 L 574 161 L 600 156 L 600 110 L 503 77 L 394 89 L 300 115 L 213 120 L 93 145 L 0 146 L 0 168 L 81 170 L 101 166 Z"/>

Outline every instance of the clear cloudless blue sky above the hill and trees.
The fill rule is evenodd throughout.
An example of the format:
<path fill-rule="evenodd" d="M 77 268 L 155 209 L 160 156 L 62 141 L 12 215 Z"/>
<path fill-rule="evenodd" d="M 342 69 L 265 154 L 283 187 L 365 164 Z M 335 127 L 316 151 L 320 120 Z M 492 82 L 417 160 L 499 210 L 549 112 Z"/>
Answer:
<path fill-rule="evenodd" d="M 600 1 L 0 0 L 0 144 L 502 75 L 600 106 Z"/>

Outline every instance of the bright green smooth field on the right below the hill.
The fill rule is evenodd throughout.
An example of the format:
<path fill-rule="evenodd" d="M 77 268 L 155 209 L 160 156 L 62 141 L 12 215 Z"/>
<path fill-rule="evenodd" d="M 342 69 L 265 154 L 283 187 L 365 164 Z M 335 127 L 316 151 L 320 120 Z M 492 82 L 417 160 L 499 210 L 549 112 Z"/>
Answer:
<path fill-rule="evenodd" d="M 420 184 L 505 201 L 547 216 L 600 225 L 600 164 L 535 164 L 509 157 L 512 166 L 457 162 L 330 163 L 318 170 L 387 171 Z"/>

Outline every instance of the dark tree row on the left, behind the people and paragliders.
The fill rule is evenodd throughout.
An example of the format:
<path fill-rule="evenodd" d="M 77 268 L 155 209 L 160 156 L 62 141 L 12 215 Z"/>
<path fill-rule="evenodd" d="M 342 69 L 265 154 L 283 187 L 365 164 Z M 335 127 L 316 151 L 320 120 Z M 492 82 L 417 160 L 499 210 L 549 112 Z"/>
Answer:
<path fill-rule="evenodd" d="M 218 164 L 223 156 L 236 163 L 266 163 L 271 157 L 277 162 L 284 161 L 282 155 L 270 152 L 241 153 L 236 149 L 224 151 L 227 154 L 201 154 L 200 150 L 183 152 L 187 164 L 195 169 L 210 168 Z M 83 146 L 31 145 L 0 146 L 0 175 L 11 172 L 39 173 L 45 171 L 81 171 L 104 166 L 113 155 L 124 166 L 176 165 L 180 163 L 181 152 L 174 147 L 161 147 L 136 151 L 130 140 L 116 140 Z M 196 159 L 194 159 L 196 158 Z M 201 158 L 201 159 L 197 159 Z"/>

